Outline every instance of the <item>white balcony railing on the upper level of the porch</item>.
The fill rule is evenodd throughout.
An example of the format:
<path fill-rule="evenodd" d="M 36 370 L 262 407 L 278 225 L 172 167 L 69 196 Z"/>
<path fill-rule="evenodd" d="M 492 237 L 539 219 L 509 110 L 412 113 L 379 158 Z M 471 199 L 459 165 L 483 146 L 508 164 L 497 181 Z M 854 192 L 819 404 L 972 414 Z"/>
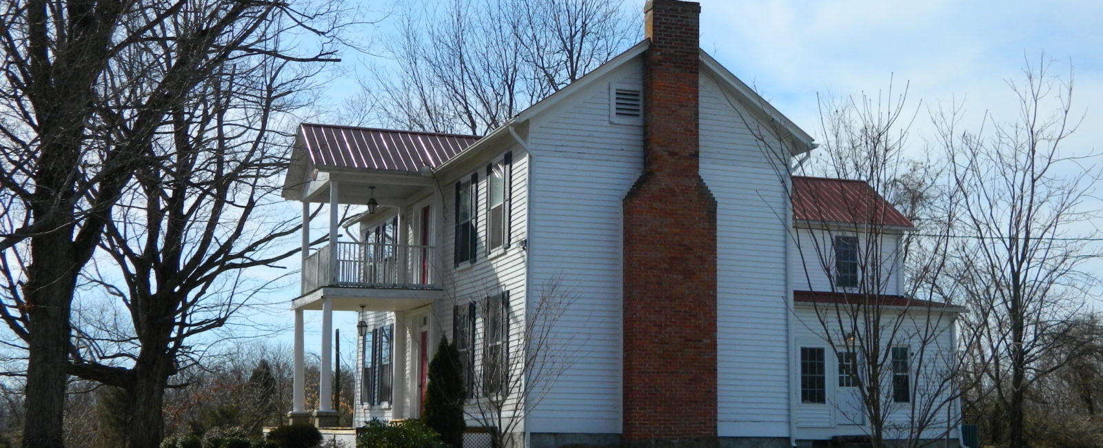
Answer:
<path fill-rule="evenodd" d="M 302 263 L 302 294 L 323 286 L 435 289 L 432 246 L 338 242 L 326 244 Z"/>

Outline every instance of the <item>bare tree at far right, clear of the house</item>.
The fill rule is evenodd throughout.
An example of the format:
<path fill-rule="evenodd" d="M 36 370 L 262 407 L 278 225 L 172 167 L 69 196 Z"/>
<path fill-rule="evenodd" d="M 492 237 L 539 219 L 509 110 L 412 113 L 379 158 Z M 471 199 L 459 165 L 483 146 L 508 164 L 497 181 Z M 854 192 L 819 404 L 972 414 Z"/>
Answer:
<path fill-rule="evenodd" d="M 949 188 L 962 199 L 954 226 L 967 236 L 951 247 L 954 280 L 974 311 L 968 330 L 981 334 L 975 351 L 993 362 L 977 369 L 978 386 L 995 395 L 997 442 L 1007 430 L 1011 447 L 1030 445 L 1025 406 L 1030 387 L 1074 359 L 1062 348 L 1099 277 L 1084 268 L 1101 255 L 1091 243 L 1097 218 L 1095 154 L 1065 148 L 1079 124 L 1072 81 L 1050 74 L 1045 56 L 1027 63 L 1025 78 L 1008 81 L 1017 119 L 986 115 L 977 131 L 959 128 L 961 110 L 935 116 L 945 149 Z M 1063 359 L 1050 358 L 1063 354 Z M 1047 362 L 1042 363 L 1041 360 Z"/>

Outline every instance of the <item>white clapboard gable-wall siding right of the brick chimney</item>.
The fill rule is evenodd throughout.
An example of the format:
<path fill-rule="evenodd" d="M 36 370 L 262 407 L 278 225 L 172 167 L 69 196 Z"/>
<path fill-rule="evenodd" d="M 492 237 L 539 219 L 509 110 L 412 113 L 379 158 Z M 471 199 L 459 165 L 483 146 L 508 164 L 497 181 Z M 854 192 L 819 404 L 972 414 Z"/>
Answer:
<path fill-rule="evenodd" d="M 746 125 L 751 114 L 732 104 L 702 77 L 700 173 L 718 205 L 719 435 L 785 437 L 785 170 Z"/>

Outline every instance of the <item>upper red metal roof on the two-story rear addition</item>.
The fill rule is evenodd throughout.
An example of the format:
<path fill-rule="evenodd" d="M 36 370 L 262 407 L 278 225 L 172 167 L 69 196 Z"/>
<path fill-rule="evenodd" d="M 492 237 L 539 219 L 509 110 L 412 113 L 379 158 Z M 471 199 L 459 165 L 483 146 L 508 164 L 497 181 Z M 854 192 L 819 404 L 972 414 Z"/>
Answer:
<path fill-rule="evenodd" d="M 793 177 L 793 218 L 913 227 L 865 181 Z"/>

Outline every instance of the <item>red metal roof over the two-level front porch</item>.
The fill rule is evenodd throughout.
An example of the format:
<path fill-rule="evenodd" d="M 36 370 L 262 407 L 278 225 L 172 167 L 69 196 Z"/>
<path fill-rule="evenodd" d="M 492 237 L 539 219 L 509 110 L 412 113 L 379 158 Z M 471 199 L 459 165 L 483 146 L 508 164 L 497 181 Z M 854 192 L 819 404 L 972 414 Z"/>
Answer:
<path fill-rule="evenodd" d="M 315 167 L 418 172 L 439 167 L 479 136 L 332 125 L 299 125 L 299 141 Z"/>

